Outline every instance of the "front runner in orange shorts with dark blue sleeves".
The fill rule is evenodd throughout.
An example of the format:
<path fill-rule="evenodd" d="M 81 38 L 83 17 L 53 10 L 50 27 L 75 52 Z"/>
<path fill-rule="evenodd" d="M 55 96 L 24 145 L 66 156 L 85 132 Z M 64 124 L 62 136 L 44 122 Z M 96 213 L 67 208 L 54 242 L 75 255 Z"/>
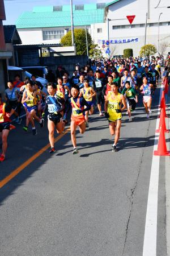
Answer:
<path fill-rule="evenodd" d="M 72 108 L 72 114 L 71 114 L 71 141 L 73 143 L 73 154 L 77 154 L 78 150 L 76 148 L 76 127 L 79 126 L 79 131 L 81 134 L 84 133 L 86 130 L 86 119 L 84 117 L 84 112 L 87 113 L 90 110 L 90 105 L 88 105 L 87 101 L 83 98 L 78 96 L 79 94 L 79 86 L 73 85 L 71 88 L 71 97 L 69 99 L 69 103 Z M 84 106 L 87 108 L 84 109 Z"/>

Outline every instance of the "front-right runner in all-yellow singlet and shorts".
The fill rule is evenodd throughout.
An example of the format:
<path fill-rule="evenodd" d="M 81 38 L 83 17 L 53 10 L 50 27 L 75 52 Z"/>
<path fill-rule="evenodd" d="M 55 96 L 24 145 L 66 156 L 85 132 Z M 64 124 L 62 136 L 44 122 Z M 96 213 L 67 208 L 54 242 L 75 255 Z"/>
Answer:
<path fill-rule="evenodd" d="M 123 104 L 123 107 L 121 108 Z M 126 109 L 126 101 L 122 94 L 118 93 L 118 85 L 113 83 L 111 91 L 107 94 L 105 100 L 105 117 L 109 121 L 109 130 L 111 135 L 115 134 L 112 151 L 117 152 L 117 143 L 120 138 L 122 111 Z"/>

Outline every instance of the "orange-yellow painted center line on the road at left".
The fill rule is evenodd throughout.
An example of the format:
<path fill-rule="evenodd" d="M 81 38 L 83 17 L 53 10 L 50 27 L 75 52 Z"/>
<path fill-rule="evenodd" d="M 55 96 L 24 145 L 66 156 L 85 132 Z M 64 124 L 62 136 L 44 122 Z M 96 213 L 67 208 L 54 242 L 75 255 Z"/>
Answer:
<path fill-rule="evenodd" d="M 70 131 L 70 128 L 63 131 L 62 134 L 59 134 L 56 139 L 54 139 L 54 143 L 59 141 L 64 135 L 66 135 Z M 38 158 L 42 153 L 44 153 L 50 147 L 50 143 L 48 143 L 45 147 L 42 147 L 35 155 L 31 156 L 28 160 L 26 160 L 23 164 L 17 167 L 14 171 L 11 172 L 10 175 L 5 177 L 5 179 L 0 181 L 0 188 L 2 188 L 5 184 L 7 184 L 11 179 L 13 179 L 19 172 L 23 171 L 25 167 L 31 164 L 36 158 Z"/>

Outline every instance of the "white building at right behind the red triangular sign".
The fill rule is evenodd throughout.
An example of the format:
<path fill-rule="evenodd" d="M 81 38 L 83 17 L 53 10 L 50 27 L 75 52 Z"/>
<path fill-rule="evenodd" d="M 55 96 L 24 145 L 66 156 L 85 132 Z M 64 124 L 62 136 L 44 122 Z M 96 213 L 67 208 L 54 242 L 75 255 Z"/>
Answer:
<path fill-rule="evenodd" d="M 159 23 L 159 52 L 162 52 L 163 44 L 170 46 L 170 6 L 169 0 L 115 0 L 105 6 L 105 21 L 109 21 L 110 48 L 114 55 L 123 55 L 124 49 L 132 48 L 134 56 L 139 55 L 142 46 L 145 45 L 145 24 L 147 14 L 146 44 L 154 44 L 158 47 L 158 22 Z M 162 14 L 160 14 L 162 13 Z M 135 15 L 130 24 L 127 15 Z M 108 27 L 108 24 L 107 26 Z M 106 38 L 108 39 L 108 32 Z M 102 40 L 98 43 L 102 44 Z M 104 43 L 104 42 L 103 42 Z M 168 47 L 165 51 L 170 51 Z"/>

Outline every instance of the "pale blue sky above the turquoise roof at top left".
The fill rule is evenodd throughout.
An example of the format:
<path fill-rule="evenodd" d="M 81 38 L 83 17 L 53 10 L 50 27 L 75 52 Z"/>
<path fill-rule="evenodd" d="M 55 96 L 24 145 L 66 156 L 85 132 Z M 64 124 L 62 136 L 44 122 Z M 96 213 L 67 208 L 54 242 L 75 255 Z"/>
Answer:
<path fill-rule="evenodd" d="M 103 3 L 111 2 L 107 0 L 85 0 L 83 3 Z M 46 5 L 69 5 L 70 0 L 4 0 L 6 20 L 4 25 L 15 25 L 16 20 L 24 11 L 32 11 L 35 6 Z M 73 0 L 73 5 L 81 5 L 82 1 Z"/>

